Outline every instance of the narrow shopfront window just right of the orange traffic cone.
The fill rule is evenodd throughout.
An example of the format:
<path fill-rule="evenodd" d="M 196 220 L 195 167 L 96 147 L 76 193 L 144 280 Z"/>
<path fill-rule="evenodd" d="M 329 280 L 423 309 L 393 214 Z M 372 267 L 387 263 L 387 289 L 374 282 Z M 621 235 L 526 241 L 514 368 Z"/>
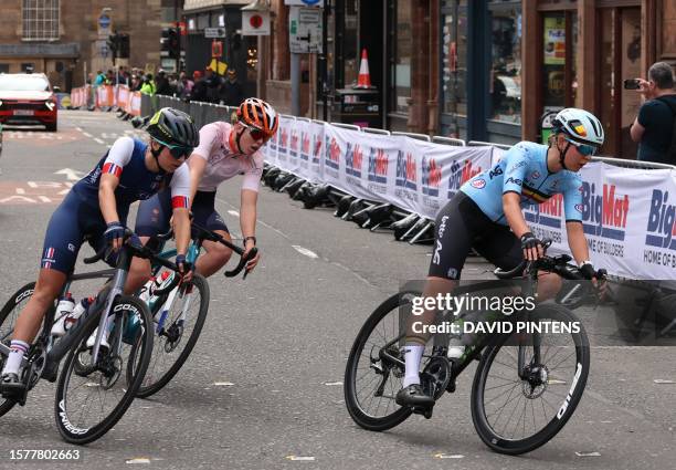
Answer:
<path fill-rule="evenodd" d="M 392 105 L 395 113 L 409 112 L 411 97 L 411 0 L 394 1 L 394 63 L 391 70 Z"/>

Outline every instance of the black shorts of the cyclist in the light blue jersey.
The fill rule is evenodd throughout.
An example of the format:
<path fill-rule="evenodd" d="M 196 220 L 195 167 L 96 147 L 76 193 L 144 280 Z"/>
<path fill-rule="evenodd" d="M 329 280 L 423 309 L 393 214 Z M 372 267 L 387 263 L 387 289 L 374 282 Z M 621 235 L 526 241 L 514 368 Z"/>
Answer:
<path fill-rule="evenodd" d="M 504 270 L 524 261 L 521 242 L 509 227 L 493 222 L 469 196 L 458 191 L 436 216 L 429 275 L 460 279 L 471 248 Z"/>

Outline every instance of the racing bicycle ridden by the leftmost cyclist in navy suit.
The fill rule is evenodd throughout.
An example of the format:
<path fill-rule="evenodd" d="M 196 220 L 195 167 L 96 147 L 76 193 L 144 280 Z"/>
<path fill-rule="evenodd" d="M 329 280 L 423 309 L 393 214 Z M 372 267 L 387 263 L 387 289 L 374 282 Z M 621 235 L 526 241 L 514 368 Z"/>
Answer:
<path fill-rule="evenodd" d="M 29 390 L 41 378 L 49 382 L 59 378 L 54 412 L 59 432 L 67 442 L 92 442 L 123 417 L 148 368 L 154 338 L 152 317 L 147 305 L 137 297 L 123 294 L 131 258 L 148 258 L 169 270 L 178 270 L 175 263 L 129 241 L 131 236 L 131 231 L 125 232 L 125 243 L 119 250 L 115 269 L 68 275 L 61 296 L 70 291 L 74 282 L 96 279 L 108 282 L 62 337 L 52 335 L 56 306 L 47 310 L 38 337 L 23 358 L 21 379 L 25 385 L 24 393 L 19 397 L 0 397 L 0 416 L 15 404 L 25 405 Z M 105 257 L 106 247 L 84 262 L 92 264 Z M 10 352 L 19 312 L 34 288 L 35 283 L 31 282 L 19 289 L 0 310 L 0 367 Z M 87 340 L 94 333 L 94 345 L 87 346 Z M 102 344 L 104 334 L 108 335 L 108 347 Z M 130 354 L 133 349 L 134 355 Z M 129 361 L 130 357 L 135 359 Z"/>

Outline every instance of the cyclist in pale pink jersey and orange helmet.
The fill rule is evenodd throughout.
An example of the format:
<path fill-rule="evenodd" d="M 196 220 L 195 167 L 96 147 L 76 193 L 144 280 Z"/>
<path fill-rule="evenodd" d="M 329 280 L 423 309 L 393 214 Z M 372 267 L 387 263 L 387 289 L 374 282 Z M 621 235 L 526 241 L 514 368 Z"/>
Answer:
<path fill-rule="evenodd" d="M 223 181 L 243 175 L 240 227 L 246 251 L 256 244 L 256 203 L 263 174 L 260 149 L 275 135 L 278 123 L 270 104 L 246 98 L 237 108 L 233 124 L 215 122 L 200 129 L 200 145 L 188 159 L 194 222 L 228 240 L 231 240 L 228 226 L 214 208 L 216 189 Z M 170 218 L 170 195 L 163 191 L 140 203 L 136 233 L 145 243 L 149 237 L 166 232 Z M 204 241 L 203 247 L 207 253 L 198 259 L 196 271 L 209 276 L 225 265 L 232 251 L 212 241 Z M 249 261 L 246 269 L 254 269 L 258 260 L 260 254 Z"/>

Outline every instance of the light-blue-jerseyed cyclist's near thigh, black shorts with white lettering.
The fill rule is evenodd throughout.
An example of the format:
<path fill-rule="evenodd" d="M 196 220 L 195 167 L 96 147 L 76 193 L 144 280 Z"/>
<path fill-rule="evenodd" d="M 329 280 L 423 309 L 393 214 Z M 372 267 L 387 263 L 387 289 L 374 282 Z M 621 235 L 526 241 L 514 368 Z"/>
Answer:
<path fill-rule="evenodd" d="M 468 199 L 457 192 L 436 216 L 434 252 L 427 275 L 457 280 L 472 248 L 472 233 L 463 217 L 462 206 Z"/>

